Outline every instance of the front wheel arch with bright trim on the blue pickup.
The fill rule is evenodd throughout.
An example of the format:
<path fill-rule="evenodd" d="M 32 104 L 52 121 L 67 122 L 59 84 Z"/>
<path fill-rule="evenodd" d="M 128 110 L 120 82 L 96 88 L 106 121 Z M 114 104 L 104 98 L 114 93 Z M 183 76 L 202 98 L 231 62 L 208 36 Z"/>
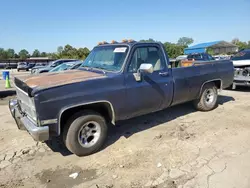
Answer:
<path fill-rule="evenodd" d="M 59 114 L 58 121 L 58 135 L 62 133 L 62 129 L 66 121 L 76 112 L 81 110 L 93 110 L 100 113 L 107 122 L 115 125 L 115 111 L 111 102 L 102 100 L 63 108 Z"/>

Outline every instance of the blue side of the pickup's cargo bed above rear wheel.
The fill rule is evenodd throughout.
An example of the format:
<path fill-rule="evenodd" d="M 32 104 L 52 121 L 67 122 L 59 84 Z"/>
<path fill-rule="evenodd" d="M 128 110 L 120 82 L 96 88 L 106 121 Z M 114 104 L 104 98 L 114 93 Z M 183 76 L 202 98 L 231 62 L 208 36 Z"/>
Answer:
<path fill-rule="evenodd" d="M 195 61 L 193 66 L 172 68 L 172 76 L 172 105 L 175 105 L 196 99 L 205 82 L 217 80 L 222 83 L 222 89 L 229 87 L 233 82 L 233 63 L 229 60 Z"/>

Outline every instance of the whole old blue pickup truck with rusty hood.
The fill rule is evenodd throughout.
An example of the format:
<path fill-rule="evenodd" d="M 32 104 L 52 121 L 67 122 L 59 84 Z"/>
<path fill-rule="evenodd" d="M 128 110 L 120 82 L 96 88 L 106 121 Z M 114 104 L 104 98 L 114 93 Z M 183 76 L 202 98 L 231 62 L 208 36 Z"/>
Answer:
<path fill-rule="evenodd" d="M 96 46 L 79 70 L 15 78 L 9 108 L 19 129 L 37 141 L 62 136 L 78 156 L 98 151 L 109 125 L 192 101 L 216 107 L 218 90 L 234 78 L 230 60 L 172 68 L 161 43 Z"/>

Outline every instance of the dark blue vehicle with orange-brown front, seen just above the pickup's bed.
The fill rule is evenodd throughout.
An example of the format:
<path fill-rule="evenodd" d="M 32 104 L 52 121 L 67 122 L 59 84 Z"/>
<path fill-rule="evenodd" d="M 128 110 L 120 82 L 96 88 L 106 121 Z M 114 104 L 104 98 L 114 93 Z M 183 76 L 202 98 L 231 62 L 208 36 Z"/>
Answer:
<path fill-rule="evenodd" d="M 181 61 L 181 67 L 191 66 L 193 62 L 215 61 L 208 53 L 192 53 L 187 55 L 187 58 Z"/>

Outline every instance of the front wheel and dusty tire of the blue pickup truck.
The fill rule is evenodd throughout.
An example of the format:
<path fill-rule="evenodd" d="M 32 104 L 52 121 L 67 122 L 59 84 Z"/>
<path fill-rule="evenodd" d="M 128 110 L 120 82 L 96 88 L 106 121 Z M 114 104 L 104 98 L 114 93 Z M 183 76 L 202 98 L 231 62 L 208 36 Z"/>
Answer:
<path fill-rule="evenodd" d="M 97 152 L 105 143 L 108 126 L 96 112 L 82 111 L 73 115 L 63 131 L 63 141 L 69 151 L 77 156 Z"/>

